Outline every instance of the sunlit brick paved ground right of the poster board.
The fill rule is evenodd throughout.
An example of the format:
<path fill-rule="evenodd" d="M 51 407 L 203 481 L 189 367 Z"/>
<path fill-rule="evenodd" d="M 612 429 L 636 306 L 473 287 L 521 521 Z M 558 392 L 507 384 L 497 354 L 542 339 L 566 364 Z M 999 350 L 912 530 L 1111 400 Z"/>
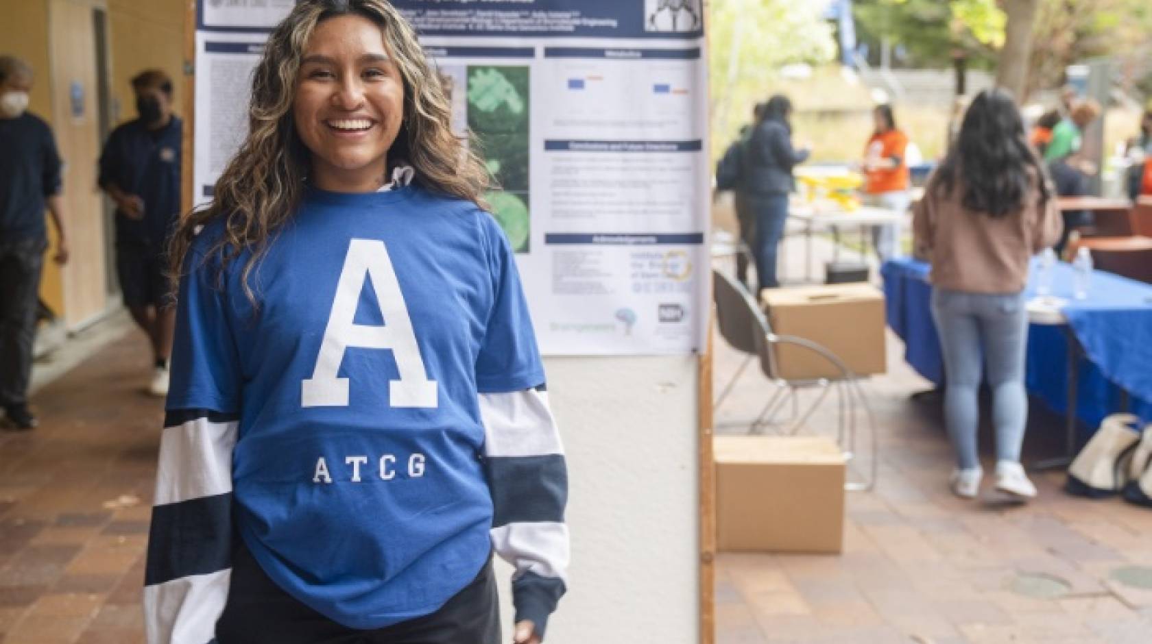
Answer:
<path fill-rule="evenodd" d="M 715 346 L 719 388 L 738 356 Z M 953 497 L 939 404 L 909 400 L 927 383 L 901 352 L 889 335 L 890 373 L 867 385 L 880 484 L 849 493 L 843 554 L 721 554 L 718 642 L 1152 643 L 1152 509 L 1069 497 L 1055 473 L 1034 478 L 1040 496 L 1028 506 Z M 719 431 L 743 431 L 736 421 L 764 398 L 758 374 L 740 382 Z M 1036 407 L 1025 460 L 1052 455 L 1062 432 L 1061 417 Z M 982 447 L 991 445 L 984 428 Z M 991 467 L 986 453 L 986 489 Z M 1120 581 L 1129 575 L 1147 586 Z"/>

